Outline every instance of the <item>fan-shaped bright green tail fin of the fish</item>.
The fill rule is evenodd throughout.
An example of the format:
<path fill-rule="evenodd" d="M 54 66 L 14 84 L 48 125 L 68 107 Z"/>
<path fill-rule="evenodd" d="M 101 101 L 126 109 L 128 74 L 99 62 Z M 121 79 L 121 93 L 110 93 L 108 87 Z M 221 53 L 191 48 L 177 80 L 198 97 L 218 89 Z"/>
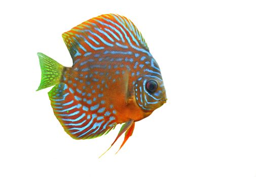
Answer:
<path fill-rule="evenodd" d="M 53 86 L 59 83 L 64 68 L 64 66 L 62 66 L 52 58 L 46 56 L 45 54 L 38 53 L 38 57 L 40 61 L 42 76 L 41 83 L 38 87 L 38 90 L 36 91 L 45 89 L 49 86 Z"/>

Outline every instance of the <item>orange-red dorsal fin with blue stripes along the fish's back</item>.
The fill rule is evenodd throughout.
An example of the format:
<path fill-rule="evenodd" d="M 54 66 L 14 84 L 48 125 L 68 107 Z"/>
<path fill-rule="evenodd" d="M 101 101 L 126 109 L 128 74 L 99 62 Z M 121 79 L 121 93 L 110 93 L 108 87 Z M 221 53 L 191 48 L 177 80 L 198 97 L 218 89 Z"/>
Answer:
<path fill-rule="evenodd" d="M 126 17 L 105 14 L 92 18 L 62 34 L 73 59 L 109 47 L 134 48 L 149 52 L 136 26 Z"/>

